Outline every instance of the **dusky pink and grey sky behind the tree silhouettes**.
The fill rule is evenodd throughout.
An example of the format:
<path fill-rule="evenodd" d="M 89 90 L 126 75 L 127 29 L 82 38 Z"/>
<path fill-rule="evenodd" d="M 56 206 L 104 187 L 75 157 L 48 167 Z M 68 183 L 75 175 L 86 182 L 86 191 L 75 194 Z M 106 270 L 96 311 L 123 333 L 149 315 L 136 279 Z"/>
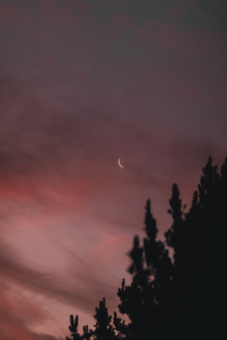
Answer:
<path fill-rule="evenodd" d="M 0 334 L 62 340 L 118 311 L 151 199 L 190 206 L 227 153 L 227 4 L 0 0 Z M 119 167 L 118 159 L 121 158 Z M 124 316 L 123 316 L 124 318 Z"/>

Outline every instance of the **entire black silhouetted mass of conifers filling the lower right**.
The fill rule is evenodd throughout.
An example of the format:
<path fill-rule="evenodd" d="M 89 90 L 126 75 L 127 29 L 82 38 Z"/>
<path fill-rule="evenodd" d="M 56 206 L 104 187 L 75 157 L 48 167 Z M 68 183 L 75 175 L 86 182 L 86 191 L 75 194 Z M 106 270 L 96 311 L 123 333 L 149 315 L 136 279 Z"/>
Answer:
<path fill-rule="evenodd" d="M 123 279 L 117 293 L 118 309 L 130 323 L 114 312 L 111 325 L 103 298 L 94 316 L 95 339 L 221 339 L 226 333 L 227 157 L 221 175 L 211 156 L 202 171 L 187 213 L 177 185 L 172 188 L 168 213 L 173 222 L 165 238 L 173 249 L 173 261 L 164 243 L 156 239 L 156 221 L 147 201 L 145 238 L 140 244 L 135 236 L 129 252 L 132 283 L 126 286 Z M 89 339 L 77 334 L 77 323 L 78 317 L 75 322 L 72 317 L 73 339 Z"/>

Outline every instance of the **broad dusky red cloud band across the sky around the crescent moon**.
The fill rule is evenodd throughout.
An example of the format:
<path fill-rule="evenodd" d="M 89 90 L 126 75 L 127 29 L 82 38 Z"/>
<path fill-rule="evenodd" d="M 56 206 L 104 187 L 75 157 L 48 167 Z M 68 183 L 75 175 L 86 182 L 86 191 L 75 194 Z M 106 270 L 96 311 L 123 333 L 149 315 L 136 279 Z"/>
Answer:
<path fill-rule="evenodd" d="M 182 90 L 177 75 L 172 79 L 168 68 L 160 67 L 154 72 L 159 75 L 165 73 L 164 85 L 171 91 L 192 93 L 190 83 L 185 83 L 186 88 Z M 184 167 L 184 171 L 187 171 L 188 176 L 195 167 L 200 171 L 210 153 L 214 157 L 218 154 L 219 161 L 223 149 L 206 137 L 211 133 L 210 130 L 206 131 L 206 125 L 209 125 L 206 114 L 196 114 L 194 118 L 193 112 L 191 116 L 182 113 L 177 118 L 164 115 L 162 109 L 167 109 L 168 98 L 166 103 L 162 103 L 162 83 L 157 80 L 157 88 L 150 89 L 148 78 L 143 79 L 144 91 L 138 91 L 139 79 L 137 84 L 128 89 L 127 107 L 121 107 L 128 120 L 123 121 L 120 116 L 114 116 L 111 109 L 106 112 L 105 109 L 90 108 L 69 113 L 66 108 L 48 106 L 28 91 L 27 83 L 20 84 L 12 77 L 3 75 L 0 196 L 25 206 L 38 204 L 46 211 L 61 208 L 61 211 L 75 209 L 85 212 L 94 197 L 98 198 L 100 193 L 104 197 L 110 189 L 116 191 L 117 195 L 118 189 L 115 188 L 123 183 L 142 185 L 164 193 L 173 181 L 173 174 L 177 178 L 181 176 L 179 159 L 184 159 L 184 164 L 187 160 L 188 168 Z M 146 98 L 153 90 L 156 100 L 160 97 L 161 106 L 153 102 L 151 113 L 147 116 L 145 111 L 138 120 L 133 115 L 133 107 L 137 106 L 137 102 L 144 102 L 145 105 Z M 201 100 L 201 94 L 198 97 Z M 169 98 L 172 101 L 171 96 Z M 103 105 L 105 108 L 106 103 Z M 155 111 L 160 114 L 154 114 Z M 193 124 L 194 129 L 200 130 L 200 126 L 203 126 L 200 138 L 205 134 L 204 139 L 196 137 L 196 133 L 194 141 L 190 136 L 183 137 L 182 124 L 181 132 L 175 133 L 176 119 L 185 127 Z M 198 122 L 196 126 L 195 119 Z M 162 123 L 166 120 L 165 124 L 171 126 L 173 132 L 165 129 L 161 133 L 157 129 L 159 120 Z M 147 126 L 146 122 L 153 122 L 153 128 Z M 211 129 L 210 125 L 208 129 Z M 215 133 L 213 125 L 212 132 Z M 127 172 L 127 176 L 121 179 L 117 166 L 119 155 L 126 166 L 125 172 L 120 174 Z"/>

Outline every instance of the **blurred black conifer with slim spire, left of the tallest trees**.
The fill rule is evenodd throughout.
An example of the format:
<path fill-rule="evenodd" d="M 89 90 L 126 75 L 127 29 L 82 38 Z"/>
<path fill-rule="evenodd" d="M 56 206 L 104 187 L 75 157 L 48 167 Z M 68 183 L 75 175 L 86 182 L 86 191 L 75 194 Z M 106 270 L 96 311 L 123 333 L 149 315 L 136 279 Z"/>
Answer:
<path fill-rule="evenodd" d="M 169 316 L 166 316 L 172 296 L 172 263 L 163 242 L 156 241 L 158 230 L 151 215 L 150 200 L 146 205 L 145 225 L 144 246 L 140 247 L 139 238 L 135 236 L 129 253 L 132 284 L 125 287 L 123 279 L 121 289 L 118 289 L 119 311 L 131 319 L 135 339 L 161 338 L 169 332 Z M 166 320 L 162 323 L 164 317 Z M 152 328 L 151 322 L 155 325 Z"/>

